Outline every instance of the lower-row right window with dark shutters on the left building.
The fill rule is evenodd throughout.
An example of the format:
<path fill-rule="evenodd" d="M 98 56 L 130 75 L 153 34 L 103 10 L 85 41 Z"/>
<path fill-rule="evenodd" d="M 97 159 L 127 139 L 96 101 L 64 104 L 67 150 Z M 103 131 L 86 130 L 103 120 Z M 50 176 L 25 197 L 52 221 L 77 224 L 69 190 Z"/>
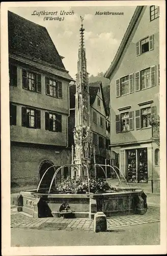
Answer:
<path fill-rule="evenodd" d="M 62 132 L 62 115 L 45 112 L 45 130 Z"/>

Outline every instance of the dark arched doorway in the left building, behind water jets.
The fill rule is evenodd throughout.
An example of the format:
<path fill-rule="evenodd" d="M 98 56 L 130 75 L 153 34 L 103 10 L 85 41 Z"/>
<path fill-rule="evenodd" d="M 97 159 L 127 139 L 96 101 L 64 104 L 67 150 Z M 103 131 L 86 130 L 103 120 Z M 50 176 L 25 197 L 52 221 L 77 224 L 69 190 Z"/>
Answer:
<path fill-rule="evenodd" d="M 40 167 L 39 167 L 39 181 L 41 180 L 41 178 L 44 175 L 45 171 L 50 167 L 47 170 L 45 176 L 43 177 L 43 180 L 41 182 L 41 186 L 40 187 L 48 188 L 50 186 L 52 177 L 53 177 L 54 172 L 56 170 L 56 168 L 53 165 L 54 165 L 53 162 L 51 162 L 50 160 L 45 160 L 45 161 L 43 161 L 40 164 Z M 53 166 L 53 167 L 51 167 L 51 166 Z M 55 182 L 53 182 L 52 186 L 55 186 Z"/>

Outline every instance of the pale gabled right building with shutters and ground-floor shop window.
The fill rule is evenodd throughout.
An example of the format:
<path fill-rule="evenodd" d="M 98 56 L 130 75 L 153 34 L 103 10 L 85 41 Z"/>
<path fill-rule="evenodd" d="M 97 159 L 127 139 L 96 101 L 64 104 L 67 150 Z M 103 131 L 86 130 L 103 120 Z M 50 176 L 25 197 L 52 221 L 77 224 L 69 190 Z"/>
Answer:
<path fill-rule="evenodd" d="M 136 8 L 105 77 L 111 150 L 130 185 L 159 192 L 159 8 Z"/>

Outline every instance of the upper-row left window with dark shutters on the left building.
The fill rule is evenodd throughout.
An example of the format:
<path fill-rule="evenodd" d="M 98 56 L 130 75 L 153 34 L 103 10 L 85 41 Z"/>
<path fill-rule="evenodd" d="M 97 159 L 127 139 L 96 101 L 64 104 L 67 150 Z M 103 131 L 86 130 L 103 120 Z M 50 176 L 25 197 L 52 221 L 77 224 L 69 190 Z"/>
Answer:
<path fill-rule="evenodd" d="M 32 92 L 41 93 L 41 75 L 22 70 L 22 88 Z"/>

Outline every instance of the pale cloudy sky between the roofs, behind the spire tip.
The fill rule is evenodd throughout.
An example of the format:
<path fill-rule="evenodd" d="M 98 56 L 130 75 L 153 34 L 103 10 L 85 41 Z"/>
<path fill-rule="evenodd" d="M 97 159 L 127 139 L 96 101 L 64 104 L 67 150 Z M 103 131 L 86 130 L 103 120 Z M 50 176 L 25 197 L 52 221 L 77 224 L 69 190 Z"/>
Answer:
<path fill-rule="evenodd" d="M 106 72 L 113 61 L 136 6 L 105 7 L 11 7 L 10 11 L 45 27 L 63 57 L 69 74 L 75 79 L 79 48 L 80 16 L 84 17 L 87 71 L 96 76 Z M 60 15 L 60 11 L 73 11 L 73 15 Z M 32 15 L 34 11 L 58 11 L 63 21 L 44 20 L 45 16 Z M 124 15 L 95 15 L 96 11 L 123 12 Z M 51 16 L 51 15 L 49 15 Z"/>

